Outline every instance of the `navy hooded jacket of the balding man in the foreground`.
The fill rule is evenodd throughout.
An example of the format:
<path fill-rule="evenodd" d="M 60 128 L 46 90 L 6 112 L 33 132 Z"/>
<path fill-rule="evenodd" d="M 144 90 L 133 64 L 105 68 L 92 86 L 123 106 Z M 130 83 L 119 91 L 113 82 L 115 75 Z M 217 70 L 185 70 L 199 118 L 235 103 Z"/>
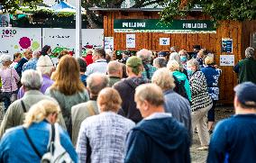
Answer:
<path fill-rule="evenodd" d="M 172 117 L 143 120 L 130 132 L 125 163 L 190 162 L 187 129 Z"/>

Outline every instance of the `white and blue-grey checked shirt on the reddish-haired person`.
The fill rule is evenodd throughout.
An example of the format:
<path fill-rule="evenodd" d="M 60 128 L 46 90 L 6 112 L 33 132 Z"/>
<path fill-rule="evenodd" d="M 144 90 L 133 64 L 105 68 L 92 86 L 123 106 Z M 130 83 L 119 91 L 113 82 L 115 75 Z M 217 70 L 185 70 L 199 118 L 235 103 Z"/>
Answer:
<path fill-rule="evenodd" d="M 87 139 L 92 163 L 123 162 L 126 136 L 134 126 L 134 122 L 113 112 L 88 117 L 78 134 L 79 162 L 87 162 Z"/>

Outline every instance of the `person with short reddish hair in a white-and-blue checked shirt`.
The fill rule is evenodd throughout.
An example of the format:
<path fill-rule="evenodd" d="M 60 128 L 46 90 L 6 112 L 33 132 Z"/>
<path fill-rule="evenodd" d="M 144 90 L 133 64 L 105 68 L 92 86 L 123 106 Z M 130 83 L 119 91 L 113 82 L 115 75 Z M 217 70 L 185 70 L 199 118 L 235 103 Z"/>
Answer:
<path fill-rule="evenodd" d="M 79 162 L 123 162 L 126 136 L 135 123 L 117 114 L 121 104 L 122 99 L 114 88 L 100 91 L 97 97 L 100 114 L 88 117 L 80 127 Z"/>

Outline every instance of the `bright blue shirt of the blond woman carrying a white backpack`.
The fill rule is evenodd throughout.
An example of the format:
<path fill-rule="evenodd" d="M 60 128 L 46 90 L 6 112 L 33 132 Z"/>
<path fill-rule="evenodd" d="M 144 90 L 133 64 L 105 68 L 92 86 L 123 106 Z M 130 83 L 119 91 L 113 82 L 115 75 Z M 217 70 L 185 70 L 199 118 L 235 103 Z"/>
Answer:
<path fill-rule="evenodd" d="M 50 135 L 50 123 L 47 121 L 34 122 L 27 129 L 35 148 L 41 156 L 47 151 Z M 78 162 L 78 155 L 66 131 L 59 126 L 60 144 L 69 153 L 74 162 Z M 5 132 L 0 141 L 0 162 L 40 162 L 37 154 L 32 149 L 23 131 L 23 126 L 14 127 Z"/>

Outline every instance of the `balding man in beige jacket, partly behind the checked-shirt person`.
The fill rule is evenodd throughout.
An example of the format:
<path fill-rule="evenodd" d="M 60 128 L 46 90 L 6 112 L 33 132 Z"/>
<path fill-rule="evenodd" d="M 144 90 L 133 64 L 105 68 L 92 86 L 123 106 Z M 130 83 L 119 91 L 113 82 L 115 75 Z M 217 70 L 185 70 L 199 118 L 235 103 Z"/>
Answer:
<path fill-rule="evenodd" d="M 86 103 L 77 104 L 71 108 L 72 120 L 72 142 L 74 146 L 77 144 L 78 132 L 81 123 L 89 116 L 99 113 L 96 98 L 98 93 L 108 86 L 108 77 L 105 74 L 94 73 L 87 77 L 87 89 L 90 94 L 90 100 Z"/>

